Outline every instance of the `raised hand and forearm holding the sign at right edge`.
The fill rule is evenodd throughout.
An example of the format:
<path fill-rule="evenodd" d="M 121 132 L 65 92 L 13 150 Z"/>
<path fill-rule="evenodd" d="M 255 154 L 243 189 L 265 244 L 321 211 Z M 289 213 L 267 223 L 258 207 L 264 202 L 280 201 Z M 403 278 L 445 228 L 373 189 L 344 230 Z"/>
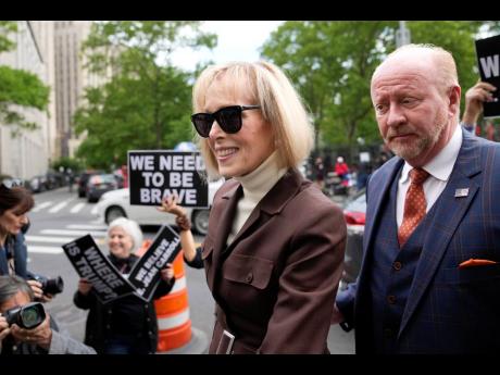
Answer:
<path fill-rule="evenodd" d="M 495 100 L 492 92 L 497 88 L 487 82 L 478 82 L 465 92 L 465 109 L 462 126 L 473 134 L 476 133 L 477 118 L 483 113 L 483 103 Z"/>

